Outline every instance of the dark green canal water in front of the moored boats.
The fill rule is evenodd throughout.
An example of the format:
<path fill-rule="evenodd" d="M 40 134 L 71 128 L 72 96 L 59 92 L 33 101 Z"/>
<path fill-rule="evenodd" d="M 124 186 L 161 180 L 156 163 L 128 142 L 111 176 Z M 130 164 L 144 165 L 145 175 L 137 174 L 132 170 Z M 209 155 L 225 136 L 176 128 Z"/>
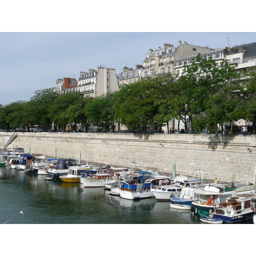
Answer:
<path fill-rule="evenodd" d="M 204 224 L 156 198 L 131 201 L 46 177 L 0 167 L 0 224 Z"/>

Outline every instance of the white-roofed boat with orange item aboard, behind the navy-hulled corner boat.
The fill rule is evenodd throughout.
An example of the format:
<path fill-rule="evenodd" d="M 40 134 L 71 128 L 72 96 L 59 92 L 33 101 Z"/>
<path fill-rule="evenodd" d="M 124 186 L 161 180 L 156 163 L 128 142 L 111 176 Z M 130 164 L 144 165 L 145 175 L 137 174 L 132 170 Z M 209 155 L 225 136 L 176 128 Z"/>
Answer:
<path fill-rule="evenodd" d="M 254 193 L 253 184 L 246 182 L 233 182 L 232 188 L 229 191 L 226 184 L 217 184 L 217 186 L 207 185 L 203 189 L 195 189 L 195 197 L 198 200 L 192 201 L 192 207 L 195 210 L 201 209 L 204 211 L 213 211 L 220 203 L 223 203 L 226 198 L 236 196 L 239 194 Z"/>

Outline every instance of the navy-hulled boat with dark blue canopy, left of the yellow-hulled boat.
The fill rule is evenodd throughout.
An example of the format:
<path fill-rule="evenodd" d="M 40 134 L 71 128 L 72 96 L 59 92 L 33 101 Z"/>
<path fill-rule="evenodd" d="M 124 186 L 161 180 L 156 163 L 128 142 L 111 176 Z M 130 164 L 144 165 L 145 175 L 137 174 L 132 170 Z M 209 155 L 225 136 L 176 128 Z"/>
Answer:
<path fill-rule="evenodd" d="M 78 165 L 74 159 L 58 158 L 57 164 L 49 168 L 47 180 L 58 180 L 60 175 L 67 175 L 69 167 Z"/>

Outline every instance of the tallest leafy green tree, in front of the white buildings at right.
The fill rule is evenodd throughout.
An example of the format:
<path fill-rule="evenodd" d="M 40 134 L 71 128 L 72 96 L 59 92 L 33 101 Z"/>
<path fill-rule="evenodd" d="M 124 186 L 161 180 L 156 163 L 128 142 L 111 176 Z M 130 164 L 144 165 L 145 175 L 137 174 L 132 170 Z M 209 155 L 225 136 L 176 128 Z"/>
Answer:
<path fill-rule="evenodd" d="M 201 58 L 200 54 L 191 65 L 185 65 L 177 80 L 172 107 L 176 109 L 176 118 L 183 118 L 186 131 L 187 116 L 191 128 L 197 130 L 203 125 L 216 129 L 218 123 L 226 120 L 224 116 L 228 118 L 228 108 L 222 111 L 223 102 L 227 100 L 227 94 L 223 93 L 230 93 L 237 84 L 239 73 L 235 70 L 236 66 L 229 64 L 226 58 L 217 63 L 212 58 Z"/>

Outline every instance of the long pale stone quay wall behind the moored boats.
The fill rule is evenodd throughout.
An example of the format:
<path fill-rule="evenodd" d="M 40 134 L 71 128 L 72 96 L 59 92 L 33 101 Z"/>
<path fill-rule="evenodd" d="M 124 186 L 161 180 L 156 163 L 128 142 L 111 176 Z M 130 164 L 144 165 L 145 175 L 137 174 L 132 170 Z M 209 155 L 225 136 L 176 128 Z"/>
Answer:
<path fill-rule="evenodd" d="M 0 132 L 0 148 L 13 133 Z M 74 157 L 93 163 L 128 167 L 135 161 L 143 168 L 205 179 L 255 183 L 256 135 L 215 134 L 117 134 L 18 132 L 7 147 L 55 157 Z"/>

